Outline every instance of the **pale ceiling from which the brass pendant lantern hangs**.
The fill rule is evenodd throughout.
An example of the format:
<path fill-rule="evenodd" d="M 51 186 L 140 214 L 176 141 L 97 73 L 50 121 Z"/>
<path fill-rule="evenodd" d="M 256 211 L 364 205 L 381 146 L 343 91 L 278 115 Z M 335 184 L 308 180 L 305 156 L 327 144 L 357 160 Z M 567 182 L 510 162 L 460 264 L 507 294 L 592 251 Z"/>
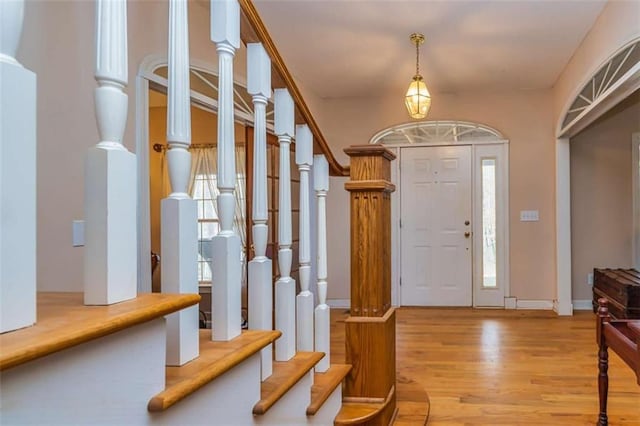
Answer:
<path fill-rule="evenodd" d="M 432 93 L 550 88 L 605 0 L 254 0 L 290 72 L 322 98 L 404 93 L 422 32 Z"/>

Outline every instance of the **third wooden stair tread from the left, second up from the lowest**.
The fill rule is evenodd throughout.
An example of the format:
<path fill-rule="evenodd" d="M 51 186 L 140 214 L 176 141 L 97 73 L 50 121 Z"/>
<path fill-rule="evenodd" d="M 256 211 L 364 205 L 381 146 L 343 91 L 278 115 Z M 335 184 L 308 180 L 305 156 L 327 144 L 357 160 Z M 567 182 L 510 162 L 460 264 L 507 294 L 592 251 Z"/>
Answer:
<path fill-rule="evenodd" d="M 324 357 L 324 352 L 298 352 L 289 361 L 274 361 L 273 373 L 260 386 L 260 401 L 253 414 L 266 413 Z"/>

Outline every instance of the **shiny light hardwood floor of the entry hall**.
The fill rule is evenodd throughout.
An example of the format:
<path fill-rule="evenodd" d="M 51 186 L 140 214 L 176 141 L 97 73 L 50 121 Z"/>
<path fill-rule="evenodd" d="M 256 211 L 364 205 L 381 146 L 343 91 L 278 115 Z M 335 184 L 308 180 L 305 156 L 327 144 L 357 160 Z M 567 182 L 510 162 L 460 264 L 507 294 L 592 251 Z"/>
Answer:
<path fill-rule="evenodd" d="M 344 360 L 345 310 L 332 312 Z M 432 425 L 594 425 L 595 318 L 548 311 L 400 308 L 397 370 L 422 385 Z M 609 423 L 640 425 L 640 386 L 610 351 Z"/>

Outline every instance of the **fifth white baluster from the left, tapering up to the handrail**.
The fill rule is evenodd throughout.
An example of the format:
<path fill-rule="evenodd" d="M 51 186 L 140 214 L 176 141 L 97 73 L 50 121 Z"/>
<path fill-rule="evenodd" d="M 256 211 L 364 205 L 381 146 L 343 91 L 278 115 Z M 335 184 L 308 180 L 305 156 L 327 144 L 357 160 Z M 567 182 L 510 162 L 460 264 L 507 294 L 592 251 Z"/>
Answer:
<path fill-rule="evenodd" d="M 253 97 L 253 244 L 255 257 L 249 262 L 249 328 L 273 329 L 271 259 L 266 256 L 267 204 L 267 101 L 271 97 L 271 60 L 260 43 L 247 45 L 247 91 Z M 262 380 L 273 372 L 271 345 L 261 352 Z"/>

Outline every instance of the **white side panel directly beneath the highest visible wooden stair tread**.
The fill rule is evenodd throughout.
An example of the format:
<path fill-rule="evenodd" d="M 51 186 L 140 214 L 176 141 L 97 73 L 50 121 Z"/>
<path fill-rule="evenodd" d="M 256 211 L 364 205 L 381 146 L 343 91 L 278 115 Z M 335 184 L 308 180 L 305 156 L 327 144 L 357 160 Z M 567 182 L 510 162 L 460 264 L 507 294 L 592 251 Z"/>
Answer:
<path fill-rule="evenodd" d="M 2 424 L 147 424 L 165 342 L 160 318 L 4 371 Z"/>

